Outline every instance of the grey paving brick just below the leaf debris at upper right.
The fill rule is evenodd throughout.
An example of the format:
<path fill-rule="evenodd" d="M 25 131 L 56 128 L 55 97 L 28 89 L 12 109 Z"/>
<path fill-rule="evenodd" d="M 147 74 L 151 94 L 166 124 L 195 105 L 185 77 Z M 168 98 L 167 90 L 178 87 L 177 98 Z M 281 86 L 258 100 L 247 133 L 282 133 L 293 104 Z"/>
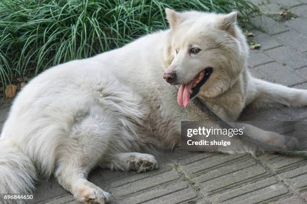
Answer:
<path fill-rule="evenodd" d="M 252 23 L 255 25 L 256 28 L 260 27 L 269 34 L 277 34 L 289 30 L 288 27 L 276 22 L 272 18 L 267 17 L 265 15 L 262 15 L 262 17 L 255 18 Z"/>

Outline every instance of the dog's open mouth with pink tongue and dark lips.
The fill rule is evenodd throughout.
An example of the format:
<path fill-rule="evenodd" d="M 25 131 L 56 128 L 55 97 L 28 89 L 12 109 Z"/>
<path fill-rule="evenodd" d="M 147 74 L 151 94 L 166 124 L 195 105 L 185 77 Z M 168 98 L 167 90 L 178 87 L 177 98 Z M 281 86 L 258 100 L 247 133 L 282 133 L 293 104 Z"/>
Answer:
<path fill-rule="evenodd" d="M 205 68 L 203 71 L 199 72 L 191 82 L 180 85 L 177 96 L 180 106 L 187 107 L 190 99 L 197 95 L 200 87 L 208 80 L 212 71 L 212 67 Z"/>

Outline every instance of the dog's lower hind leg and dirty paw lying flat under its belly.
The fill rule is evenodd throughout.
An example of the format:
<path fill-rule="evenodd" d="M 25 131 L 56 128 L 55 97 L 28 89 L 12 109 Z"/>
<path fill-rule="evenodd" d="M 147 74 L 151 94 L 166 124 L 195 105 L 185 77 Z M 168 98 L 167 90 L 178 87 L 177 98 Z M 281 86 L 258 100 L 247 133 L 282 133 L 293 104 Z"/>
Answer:
<path fill-rule="evenodd" d="M 138 152 L 126 152 L 117 153 L 112 155 L 103 166 L 106 165 L 111 170 L 130 170 L 133 169 L 136 172 L 145 172 L 149 170 L 157 169 L 158 162 L 155 157 L 147 153 Z"/>

